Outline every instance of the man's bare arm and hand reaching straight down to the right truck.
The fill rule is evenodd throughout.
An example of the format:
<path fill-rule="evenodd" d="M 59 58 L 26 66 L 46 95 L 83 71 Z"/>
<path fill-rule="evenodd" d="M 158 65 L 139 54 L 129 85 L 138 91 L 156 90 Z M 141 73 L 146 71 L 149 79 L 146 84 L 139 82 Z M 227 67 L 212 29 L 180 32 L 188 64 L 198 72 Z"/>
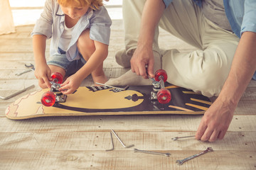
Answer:
<path fill-rule="evenodd" d="M 145 66 L 148 65 L 149 76 L 154 77 L 153 40 L 156 26 L 164 12 L 162 0 L 147 0 L 142 12 L 142 23 L 139 30 L 137 50 L 131 60 L 132 72 L 147 79 Z"/>

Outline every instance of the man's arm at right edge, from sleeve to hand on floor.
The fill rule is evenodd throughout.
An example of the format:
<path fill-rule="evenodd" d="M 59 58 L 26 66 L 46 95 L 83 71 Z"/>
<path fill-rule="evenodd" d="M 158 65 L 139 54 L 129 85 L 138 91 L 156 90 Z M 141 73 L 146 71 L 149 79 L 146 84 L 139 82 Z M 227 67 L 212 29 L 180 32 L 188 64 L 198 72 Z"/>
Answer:
<path fill-rule="evenodd" d="M 220 95 L 203 115 L 196 139 L 213 142 L 223 139 L 233 118 L 238 101 L 256 69 L 256 33 L 242 33 L 230 74 Z"/>

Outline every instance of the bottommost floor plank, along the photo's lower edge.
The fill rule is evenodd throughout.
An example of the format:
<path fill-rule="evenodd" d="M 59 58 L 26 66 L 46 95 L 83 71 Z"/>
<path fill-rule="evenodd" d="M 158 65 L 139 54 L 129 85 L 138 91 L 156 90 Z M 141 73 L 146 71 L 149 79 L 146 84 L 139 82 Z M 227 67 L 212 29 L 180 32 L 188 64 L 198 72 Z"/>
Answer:
<path fill-rule="evenodd" d="M 126 151 L 19 150 L 0 151 L 3 169 L 255 169 L 254 151 L 215 151 L 178 166 L 201 150 L 172 151 L 171 157 Z"/>

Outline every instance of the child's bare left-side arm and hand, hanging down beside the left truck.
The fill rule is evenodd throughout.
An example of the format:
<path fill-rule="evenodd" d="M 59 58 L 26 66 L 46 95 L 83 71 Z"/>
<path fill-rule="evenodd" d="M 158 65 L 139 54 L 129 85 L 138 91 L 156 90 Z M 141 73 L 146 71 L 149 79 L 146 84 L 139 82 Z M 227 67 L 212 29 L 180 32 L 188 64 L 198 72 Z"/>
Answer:
<path fill-rule="evenodd" d="M 39 84 L 50 88 L 50 68 L 46 64 L 46 35 L 33 35 L 33 54 L 36 62 L 35 76 Z"/>

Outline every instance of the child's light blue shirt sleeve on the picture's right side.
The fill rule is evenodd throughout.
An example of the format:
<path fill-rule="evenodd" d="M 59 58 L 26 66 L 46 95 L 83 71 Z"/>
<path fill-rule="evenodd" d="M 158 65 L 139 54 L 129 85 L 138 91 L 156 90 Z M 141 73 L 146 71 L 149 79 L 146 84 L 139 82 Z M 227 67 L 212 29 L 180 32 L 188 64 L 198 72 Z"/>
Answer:
<path fill-rule="evenodd" d="M 110 44 L 110 26 L 112 24 L 111 18 L 104 6 L 96 10 L 92 18 L 90 18 L 90 39 L 102 42 L 103 44 Z"/>

